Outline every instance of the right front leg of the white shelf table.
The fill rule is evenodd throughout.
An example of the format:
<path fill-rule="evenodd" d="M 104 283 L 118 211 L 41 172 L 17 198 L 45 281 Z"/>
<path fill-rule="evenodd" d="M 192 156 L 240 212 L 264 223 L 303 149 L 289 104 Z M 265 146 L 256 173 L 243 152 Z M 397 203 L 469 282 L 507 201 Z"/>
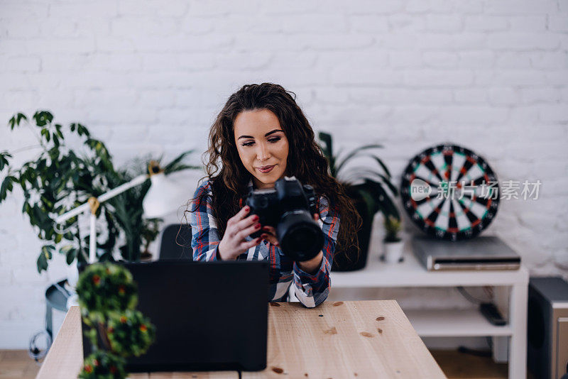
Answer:
<path fill-rule="evenodd" d="M 509 304 L 509 322 L 513 329 L 509 339 L 509 379 L 527 377 L 527 302 L 527 283 L 513 285 Z"/>

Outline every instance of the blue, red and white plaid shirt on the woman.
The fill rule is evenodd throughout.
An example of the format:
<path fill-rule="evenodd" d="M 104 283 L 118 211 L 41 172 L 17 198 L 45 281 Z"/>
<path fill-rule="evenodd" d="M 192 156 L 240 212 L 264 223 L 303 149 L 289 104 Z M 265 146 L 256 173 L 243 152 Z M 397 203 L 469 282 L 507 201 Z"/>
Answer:
<path fill-rule="evenodd" d="M 252 181 L 249 189 L 253 188 Z M 213 192 L 206 180 L 197 187 L 194 199 L 207 192 L 205 201 L 193 202 L 191 209 L 191 229 L 193 260 L 217 260 L 217 248 L 222 236 L 217 230 L 217 219 L 213 214 Z M 317 272 L 305 273 L 297 262 L 285 256 L 279 247 L 268 241 L 262 241 L 242 253 L 239 260 L 269 260 L 270 261 L 270 290 L 268 301 L 284 302 L 288 300 L 288 289 L 294 285 L 294 292 L 298 300 L 305 307 L 316 307 L 322 303 L 329 294 L 331 282 L 329 272 L 332 269 L 332 259 L 339 231 L 339 216 L 329 209 L 327 199 L 320 197 L 320 220 L 317 221 L 324 232 L 324 247 L 322 264 Z M 250 241 L 250 237 L 246 237 Z"/>

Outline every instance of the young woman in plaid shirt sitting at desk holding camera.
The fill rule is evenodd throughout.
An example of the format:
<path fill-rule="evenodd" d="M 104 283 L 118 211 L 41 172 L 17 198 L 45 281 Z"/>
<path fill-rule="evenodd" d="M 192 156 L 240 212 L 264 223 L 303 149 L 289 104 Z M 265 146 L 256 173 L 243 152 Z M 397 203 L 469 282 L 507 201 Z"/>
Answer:
<path fill-rule="evenodd" d="M 323 302 L 336 244 L 339 249 L 356 244 L 360 218 L 329 175 L 327 160 L 294 98 L 278 84 L 245 85 L 229 97 L 213 123 L 207 154 L 208 180 L 197 188 L 190 209 L 194 260 L 269 260 L 269 300 L 287 300 L 293 283 L 306 307 Z M 239 207 L 251 189 L 272 188 L 284 176 L 295 176 L 320 195 L 320 214 L 314 219 L 324 232 L 324 247 L 303 262 L 285 256 L 275 230 L 259 224 L 249 207 Z M 252 239 L 259 230 L 261 237 Z"/>

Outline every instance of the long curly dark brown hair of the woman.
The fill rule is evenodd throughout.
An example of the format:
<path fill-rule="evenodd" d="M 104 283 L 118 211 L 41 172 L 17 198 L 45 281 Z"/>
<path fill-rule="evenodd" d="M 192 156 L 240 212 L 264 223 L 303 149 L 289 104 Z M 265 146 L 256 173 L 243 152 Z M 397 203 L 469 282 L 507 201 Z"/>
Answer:
<path fill-rule="evenodd" d="M 312 126 L 296 104 L 295 94 L 272 83 L 247 84 L 232 94 L 209 131 L 209 148 L 204 153 L 205 168 L 213 192 L 212 206 L 217 229 L 223 236 L 227 221 L 239 212 L 239 200 L 246 197 L 251 173 L 246 170 L 234 139 L 234 120 L 243 111 L 268 109 L 278 117 L 288 138 L 289 152 L 285 175 L 314 187 L 339 214 L 336 253 L 358 248 L 357 231 L 361 217 L 342 184 L 329 175 L 329 163 L 315 141 Z M 207 191 L 202 192 L 204 197 Z M 194 199 L 199 204 L 201 199 Z M 197 209 L 197 207 L 192 207 Z"/>

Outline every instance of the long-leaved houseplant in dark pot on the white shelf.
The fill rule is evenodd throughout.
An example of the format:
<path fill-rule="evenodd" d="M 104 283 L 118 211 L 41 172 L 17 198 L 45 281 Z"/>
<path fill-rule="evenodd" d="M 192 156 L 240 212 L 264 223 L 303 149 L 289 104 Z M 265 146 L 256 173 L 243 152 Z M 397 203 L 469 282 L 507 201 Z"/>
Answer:
<path fill-rule="evenodd" d="M 359 253 L 354 248 L 338 252 L 334 257 L 332 270 L 359 270 L 366 265 L 368 244 L 371 240 L 371 226 L 375 214 L 381 212 L 385 219 L 388 219 L 389 216 L 400 219 L 394 203 L 394 198 L 398 196 L 398 190 L 391 182 L 391 172 L 381 158 L 373 153 L 374 150 L 382 148 L 382 145 L 363 145 L 339 158 L 334 155 L 332 136 L 329 133 L 320 132 L 319 137 L 320 148 L 329 162 L 331 175 L 344 185 L 346 194 L 353 200 L 363 221 L 363 226 L 357 233 Z M 347 163 L 359 157 L 370 159 L 376 163 L 377 167 L 356 166 L 347 170 Z"/>

